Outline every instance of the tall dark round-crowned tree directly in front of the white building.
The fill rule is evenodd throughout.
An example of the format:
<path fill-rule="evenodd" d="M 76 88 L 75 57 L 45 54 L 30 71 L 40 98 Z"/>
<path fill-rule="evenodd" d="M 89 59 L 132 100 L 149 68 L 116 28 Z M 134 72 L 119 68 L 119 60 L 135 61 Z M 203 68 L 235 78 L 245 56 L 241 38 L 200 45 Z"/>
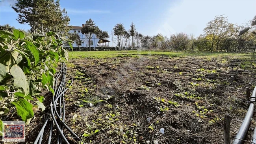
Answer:
<path fill-rule="evenodd" d="M 91 51 L 91 39 L 93 38 L 93 34 L 99 34 L 100 29 L 95 25 L 94 21 L 90 18 L 84 24 L 84 27 L 81 29 L 82 34 L 89 39 L 89 50 Z"/>

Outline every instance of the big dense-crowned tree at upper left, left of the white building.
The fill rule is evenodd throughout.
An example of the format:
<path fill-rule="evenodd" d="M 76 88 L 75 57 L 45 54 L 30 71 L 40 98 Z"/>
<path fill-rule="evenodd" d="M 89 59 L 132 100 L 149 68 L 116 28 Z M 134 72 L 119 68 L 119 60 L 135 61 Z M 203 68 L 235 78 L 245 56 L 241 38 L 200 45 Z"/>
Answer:
<path fill-rule="evenodd" d="M 17 0 L 12 7 L 18 13 L 19 23 L 28 23 L 32 32 L 54 31 L 62 36 L 69 31 L 70 18 L 61 9 L 59 0 Z"/>

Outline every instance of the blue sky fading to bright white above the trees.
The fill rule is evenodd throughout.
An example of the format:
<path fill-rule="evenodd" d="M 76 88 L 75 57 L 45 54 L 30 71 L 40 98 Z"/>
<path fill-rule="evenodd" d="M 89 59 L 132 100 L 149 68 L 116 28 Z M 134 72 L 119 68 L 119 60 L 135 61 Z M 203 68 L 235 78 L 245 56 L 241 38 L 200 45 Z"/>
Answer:
<path fill-rule="evenodd" d="M 14 2 L 0 0 L 0 25 L 30 29 L 15 20 L 17 13 L 10 7 Z M 230 23 L 240 25 L 256 14 L 256 0 L 60 0 L 60 4 L 68 12 L 70 25 L 82 26 L 91 18 L 109 34 L 117 23 L 128 29 L 133 21 L 144 35 L 185 32 L 199 36 L 216 15 L 224 14 Z"/>

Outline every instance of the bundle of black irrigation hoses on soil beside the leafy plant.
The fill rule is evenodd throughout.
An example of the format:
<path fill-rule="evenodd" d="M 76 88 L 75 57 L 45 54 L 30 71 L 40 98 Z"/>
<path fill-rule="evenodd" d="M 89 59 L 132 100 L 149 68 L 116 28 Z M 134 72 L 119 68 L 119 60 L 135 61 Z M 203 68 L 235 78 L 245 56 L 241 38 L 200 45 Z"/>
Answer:
<path fill-rule="evenodd" d="M 37 138 L 34 142 L 34 144 L 41 144 L 43 139 L 43 134 L 45 131 L 46 124 L 48 121 L 50 122 L 50 131 L 49 131 L 49 137 L 48 137 L 48 144 L 51 144 L 52 140 L 52 131 L 54 128 L 54 125 L 56 126 L 56 143 L 62 144 L 65 142 L 66 144 L 69 144 L 68 140 L 66 139 L 65 135 L 63 134 L 63 129 L 66 128 L 69 133 L 74 136 L 77 140 L 81 140 L 76 133 L 74 133 L 68 126 L 65 124 L 65 101 L 64 101 L 64 94 L 68 90 L 69 86 L 66 88 L 66 75 L 71 78 L 71 83 L 69 86 L 73 83 L 73 78 L 67 74 L 67 67 L 65 63 L 61 63 L 61 68 L 59 70 L 59 73 L 56 76 L 56 81 L 53 85 L 54 89 L 54 95 L 52 97 L 52 103 L 50 104 L 50 111 L 47 113 L 45 122 L 43 124 L 43 127 L 39 131 L 39 134 L 37 135 Z M 60 79 L 59 86 L 58 86 L 58 80 Z M 58 108 L 57 108 L 58 107 Z M 55 118 L 57 117 L 57 119 Z M 50 121 L 51 120 L 51 121 Z"/>

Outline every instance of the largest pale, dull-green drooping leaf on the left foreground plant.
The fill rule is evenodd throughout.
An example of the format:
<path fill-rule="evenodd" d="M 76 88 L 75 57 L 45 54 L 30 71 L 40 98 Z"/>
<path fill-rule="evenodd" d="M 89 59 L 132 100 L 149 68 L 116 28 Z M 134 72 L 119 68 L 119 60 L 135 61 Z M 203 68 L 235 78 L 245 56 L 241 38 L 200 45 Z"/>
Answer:
<path fill-rule="evenodd" d="M 11 67 L 10 72 L 14 80 L 13 85 L 17 87 L 21 87 L 24 90 L 25 95 L 28 95 L 29 85 L 23 70 L 18 65 L 13 65 Z"/>

